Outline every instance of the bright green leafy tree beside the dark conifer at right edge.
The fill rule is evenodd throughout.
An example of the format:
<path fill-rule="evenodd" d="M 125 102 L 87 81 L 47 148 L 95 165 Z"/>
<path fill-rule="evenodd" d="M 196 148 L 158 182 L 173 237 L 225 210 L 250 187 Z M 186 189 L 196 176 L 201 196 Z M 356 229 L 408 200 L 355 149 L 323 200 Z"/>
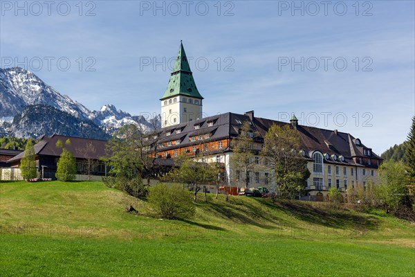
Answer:
<path fill-rule="evenodd" d="M 402 162 L 387 161 L 379 168 L 380 184 L 376 196 L 386 213 L 395 212 L 400 206 L 406 206 L 408 191 L 405 186 L 405 166 Z"/>

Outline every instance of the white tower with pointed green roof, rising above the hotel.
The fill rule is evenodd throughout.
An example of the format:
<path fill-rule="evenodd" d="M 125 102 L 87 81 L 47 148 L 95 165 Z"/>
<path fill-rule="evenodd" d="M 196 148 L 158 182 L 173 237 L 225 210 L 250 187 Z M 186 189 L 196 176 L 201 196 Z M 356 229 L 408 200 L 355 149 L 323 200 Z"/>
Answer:
<path fill-rule="evenodd" d="M 167 89 L 160 98 L 161 127 L 168 127 L 202 117 L 202 100 L 193 73 L 187 61 L 182 42 L 178 48 L 176 62 L 170 74 Z"/>

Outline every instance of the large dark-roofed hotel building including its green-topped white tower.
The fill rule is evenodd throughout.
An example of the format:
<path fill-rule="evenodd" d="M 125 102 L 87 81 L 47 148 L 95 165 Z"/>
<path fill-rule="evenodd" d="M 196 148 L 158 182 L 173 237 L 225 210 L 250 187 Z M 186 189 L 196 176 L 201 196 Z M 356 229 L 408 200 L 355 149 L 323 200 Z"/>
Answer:
<path fill-rule="evenodd" d="M 243 122 L 248 122 L 252 150 L 257 154 L 253 159 L 261 168 L 250 172 L 250 187 L 265 186 L 273 190 L 272 170 L 267 169 L 267 161 L 259 157 L 259 152 L 271 125 L 289 124 L 299 134 L 299 155 L 306 159 L 311 172 L 306 186 L 308 197 L 322 200 L 331 186 L 345 192 L 348 186 L 356 188 L 369 181 L 376 182 L 382 159 L 351 134 L 299 125 L 294 115 L 290 123 L 255 117 L 254 111 L 203 118 L 202 100 L 181 44 L 167 89 L 160 98 L 163 128 L 158 140 L 159 157 L 173 159 L 183 153 L 196 156 L 203 152 L 207 161 L 221 163 L 225 185 L 243 188 L 242 172 L 233 170 L 230 163 L 231 141 L 237 139 Z"/>

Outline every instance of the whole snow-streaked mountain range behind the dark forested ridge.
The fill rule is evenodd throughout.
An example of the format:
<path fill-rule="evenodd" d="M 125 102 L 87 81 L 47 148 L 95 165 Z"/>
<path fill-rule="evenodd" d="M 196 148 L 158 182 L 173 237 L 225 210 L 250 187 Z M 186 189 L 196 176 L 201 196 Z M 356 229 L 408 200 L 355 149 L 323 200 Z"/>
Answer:
<path fill-rule="evenodd" d="M 107 134 L 113 134 L 116 129 L 126 124 L 140 125 L 142 129 L 151 129 L 154 126 L 160 127 L 160 115 L 151 120 L 146 120 L 142 116 L 131 116 L 131 114 L 116 109 L 114 105 L 104 105 L 99 111 L 91 111 L 84 107 L 80 102 L 72 100 L 68 96 L 62 96 L 58 91 L 43 82 L 37 75 L 21 69 L 13 67 L 10 69 L 0 69 L 0 119 L 10 116 L 17 116 L 24 118 L 22 112 L 25 108 L 33 105 L 45 105 L 53 107 L 59 111 L 69 114 L 80 122 L 91 120 L 92 123 L 98 125 Z M 30 109 L 33 112 L 37 109 Z M 27 111 L 26 111 L 27 112 Z M 62 117 L 62 116 L 61 116 Z M 33 117 L 30 117 L 33 118 Z M 63 116 L 62 118 L 68 118 Z M 71 119 L 71 121 L 73 121 Z M 34 128 L 33 124 L 29 124 L 25 120 L 26 127 Z M 56 127 L 57 125 L 49 125 Z M 1 129 L 3 127 L 3 129 Z M 5 130 L 15 136 L 34 136 L 42 131 L 42 128 L 20 130 L 19 125 L 12 125 L 12 127 L 0 124 L 1 133 Z M 55 130 L 51 130 L 55 131 Z M 73 133 L 68 130 L 68 133 Z M 60 134 L 64 134 L 64 130 L 59 129 Z M 71 135 L 67 134 L 67 135 Z"/>

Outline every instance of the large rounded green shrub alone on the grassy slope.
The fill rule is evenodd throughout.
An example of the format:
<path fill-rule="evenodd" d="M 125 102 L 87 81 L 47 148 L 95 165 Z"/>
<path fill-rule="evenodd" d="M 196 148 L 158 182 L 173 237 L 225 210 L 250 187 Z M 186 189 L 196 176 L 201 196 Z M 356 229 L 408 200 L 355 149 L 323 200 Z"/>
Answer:
<path fill-rule="evenodd" d="M 150 188 L 148 200 L 158 215 L 169 220 L 192 217 L 196 213 L 192 195 L 180 185 L 169 188 L 165 184 L 157 184 Z"/>

